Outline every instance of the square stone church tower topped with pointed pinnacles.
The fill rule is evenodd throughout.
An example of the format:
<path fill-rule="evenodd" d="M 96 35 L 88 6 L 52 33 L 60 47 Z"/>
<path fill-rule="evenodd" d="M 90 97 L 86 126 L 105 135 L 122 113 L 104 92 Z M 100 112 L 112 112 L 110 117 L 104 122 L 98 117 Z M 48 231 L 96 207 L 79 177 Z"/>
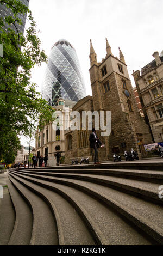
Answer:
<path fill-rule="evenodd" d="M 91 40 L 90 40 L 91 41 Z M 106 57 L 97 63 L 97 56 L 90 47 L 90 80 L 94 111 L 111 111 L 111 134 L 102 137 L 106 145 L 106 158 L 113 153 L 123 154 L 134 148 L 144 157 L 143 144 L 152 142 L 151 133 L 145 119 L 137 108 L 123 53 L 114 57 L 106 39 Z"/>

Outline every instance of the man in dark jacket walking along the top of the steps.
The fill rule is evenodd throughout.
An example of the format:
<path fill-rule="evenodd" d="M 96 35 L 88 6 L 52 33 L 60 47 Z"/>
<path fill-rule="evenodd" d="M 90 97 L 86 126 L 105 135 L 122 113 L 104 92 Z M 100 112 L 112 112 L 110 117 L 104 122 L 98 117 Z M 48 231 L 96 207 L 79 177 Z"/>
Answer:
<path fill-rule="evenodd" d="M 94 164 L 99 164 L 100 162 L 98 160 L 98 148 L 100 147 L 99 144 L 102 145 L 102 143 L 96 135 L 95 128 L 92 129 L 92 133 L 90 134 L 89 141 L 90 141 L 90 148 L 93 148 L 95 150 Z"/>

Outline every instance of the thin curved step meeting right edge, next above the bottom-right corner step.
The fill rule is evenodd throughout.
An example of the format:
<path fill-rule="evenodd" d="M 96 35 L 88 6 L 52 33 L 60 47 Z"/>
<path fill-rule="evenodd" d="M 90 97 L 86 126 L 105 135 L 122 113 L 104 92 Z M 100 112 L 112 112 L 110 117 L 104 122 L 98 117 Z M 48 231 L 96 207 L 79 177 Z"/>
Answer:
<path fill-rule="evenodd" d="M 16 173 L 16 172 L 15 172 Z M 155 201 L 156 203 L 163 204 L 163 201 L 161 198 L 159 198 L 159 186 L 162 184 L 154 184 L 151 182 L 146 181 L 137 181 L 137 180 L 131 180 L 131 179 L 125 179 L 125 178 L 117 178 L 112 176 L 104 176 L 104 175 L 96 175 L 96 174 L 69 174 L 69 173 L 53 173 L 53 175 L 50 173 L 49 176 L 40 174 L 33 174 L 33 173 L 24 173 L 24 172 L 17 172 L 22 173 L 24 175 L 28 176 L 36 176 L 39 179 L 45 179 L 49 181 L 55 182 L 55 176 L 68 179 L 77 179 L 77 180 L 85 180 L 90 182 L 95 182 L 98 184 L 101 184 L 103 186 L 109 186 L 112 188 L 116 188 L 118 190 L 127 192 L 127 193 L 133 193 L 137 194 L 138 196 L 142 196 L 148 200 Z M 45 173 L 44 173 L 45 174 Z"/>

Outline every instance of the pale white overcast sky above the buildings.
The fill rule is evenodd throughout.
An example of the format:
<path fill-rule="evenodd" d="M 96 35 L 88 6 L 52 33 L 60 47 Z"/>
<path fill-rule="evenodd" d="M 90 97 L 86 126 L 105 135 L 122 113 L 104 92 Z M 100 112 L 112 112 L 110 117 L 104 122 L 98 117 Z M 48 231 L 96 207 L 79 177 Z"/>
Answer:
<path fill-rule="evenodd" d="M 133 87 L 133 70 L 141 70 L 154 59 L 155 51 L 163 50 L 163 0 L 30 0 L 29 9 L 41 31 L 41 48 L 47 56 L 59 39 L 64 38 L 74 46 L 87 95 L 92 95 L 90 39 L 98 62 L 106 56 L 106 37 L 114 56 L 119 57 L 120 46 Z M 38 90 L 45 68 L 46 64 L 42 64 L 32 71 L 32 81 L 37 83 Z"/>

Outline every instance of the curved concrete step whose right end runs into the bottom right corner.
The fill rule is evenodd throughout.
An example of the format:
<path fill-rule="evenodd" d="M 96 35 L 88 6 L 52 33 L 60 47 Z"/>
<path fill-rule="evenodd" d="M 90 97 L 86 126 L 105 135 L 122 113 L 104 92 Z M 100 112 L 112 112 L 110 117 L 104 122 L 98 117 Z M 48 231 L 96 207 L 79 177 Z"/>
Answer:
<path fill-rule="evenodd" d="M 133 196 L 129 196 L 128 194 L 117 192 L 116 190 L 112 190 L 111 188 L 104 187 L 102 185 L 92 184 L 91 182 L 88 182 L 88 181 L 80 181 L 80 180 L 72 180 L 72 179 L 64 179 L 64 178 L 52 179 L 52 177 L 51 177 L 51 181 L 45 181 L 45 178 L 46 178 L 45 176 L 40 177 L 41 179 L 43 179 L 42 181 L 38 179 L 39 175 L 36 176 L 37 178 L 32 178 L 28 175 L 22 175 L 18 173 L 15 173 L 14 175 L 19 176 L 23 179 L 30 180 L 40 186 L 48 186 L 48 188 L 51 188 L 52 190 L 54 189 L 54 187 L 58 186 L 58 184 L 53 184 L 51 181 L 57 182 L 59 184 L 75 187 L 82 191 L 86 191 L 87 193 L 102 200 L 107 205 L 116 209 L 118 212 L 120 212 L 120 214 L 128 218 L 128 220 L 136 224 L 139 228 L 141 228 L 147 234 L 151 235 L 153 239 L 163 244 L 163 231 L 162 231 L 163 224 L 162 224 L 162 221 L 161 223 L 157 223 L 157 221 L 160 220 L 160 217 L 162 216 L 162 206 L 157 206 L 157 205 L 155 206 L 154 204 L 145 202 L 142 199 L 137 199 Z M 117 200 L 118 193 L 120 193 L 119 194 L 120 199 L 121 197 L 124 198 L 123 203 L 121 202 L 121 200 Z M 128 204 L 125 204 L 126 199 Z M 136 207 L 132 208 L 132 205 L 134 206 L 136 205 L 137 208 Z M 149 205 L 151 208 L 149 207 Z M 151 218 L 149 218 L 148 220 L 146 216 L 142 215 L 141 211 L 139 211 L 139 208 L 142 209 L 142 212 L 143 211 L 148 212 L 150 209 L 153 209 Z M 158 218 L 155 218 L 155 211 L 158 213 Z M 149 212 L 149 215 L 150 215 L 150 212 Z"/>

